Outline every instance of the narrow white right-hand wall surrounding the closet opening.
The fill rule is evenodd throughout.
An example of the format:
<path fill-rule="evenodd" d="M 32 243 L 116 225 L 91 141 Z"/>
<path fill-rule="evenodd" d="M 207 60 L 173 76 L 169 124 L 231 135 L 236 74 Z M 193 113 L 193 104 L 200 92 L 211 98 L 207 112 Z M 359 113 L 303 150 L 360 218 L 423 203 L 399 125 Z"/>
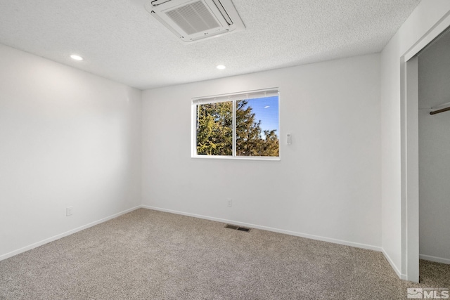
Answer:
<path fill-rule="evenodd" d="M 382 245 L 394 270 L 404 279 L 406 252 L 405 246 L 402 249 L 402 239 L 405 242 L 402 232 L 406 230 L 406 216 L 402 216 L 401 206 L 401 57 L 449 11 L 448 0 L 421 1 L 381 53 Z"/>

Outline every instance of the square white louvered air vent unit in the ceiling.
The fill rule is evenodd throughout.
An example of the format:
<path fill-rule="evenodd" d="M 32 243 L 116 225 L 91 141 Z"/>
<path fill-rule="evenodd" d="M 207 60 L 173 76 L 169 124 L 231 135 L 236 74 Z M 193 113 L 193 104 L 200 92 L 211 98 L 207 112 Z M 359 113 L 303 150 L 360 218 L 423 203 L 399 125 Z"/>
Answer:
<path fill-rule="evenodd" d="M 245 29 L 231 0 L 153 0 L 146 9 L 181 41 Z"/>

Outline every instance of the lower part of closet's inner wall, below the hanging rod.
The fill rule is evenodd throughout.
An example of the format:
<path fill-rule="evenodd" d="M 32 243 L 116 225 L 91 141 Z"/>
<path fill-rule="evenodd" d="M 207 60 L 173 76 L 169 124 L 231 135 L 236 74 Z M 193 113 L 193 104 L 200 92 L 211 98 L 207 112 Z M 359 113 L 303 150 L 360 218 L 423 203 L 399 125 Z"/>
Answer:
<path fill-rule="evenodd" d="M 450 263 L 450 118 L 419 112 L 420 258 Z"/>

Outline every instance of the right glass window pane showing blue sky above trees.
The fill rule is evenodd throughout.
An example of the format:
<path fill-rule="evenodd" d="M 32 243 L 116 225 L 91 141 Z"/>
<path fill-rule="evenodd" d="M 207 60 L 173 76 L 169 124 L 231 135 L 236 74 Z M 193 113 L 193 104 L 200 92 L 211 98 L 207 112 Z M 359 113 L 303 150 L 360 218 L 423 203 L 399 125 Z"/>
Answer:
<path fill-rule="evenodd" d="M 236 156 L 279 156 L 278 96 L 236 101 Z"/>

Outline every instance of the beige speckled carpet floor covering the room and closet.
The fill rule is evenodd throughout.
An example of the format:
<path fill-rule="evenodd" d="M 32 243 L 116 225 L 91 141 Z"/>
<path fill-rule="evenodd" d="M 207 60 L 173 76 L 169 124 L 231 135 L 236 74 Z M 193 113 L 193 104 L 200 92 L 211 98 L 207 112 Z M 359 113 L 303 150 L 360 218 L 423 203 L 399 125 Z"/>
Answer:
<path fill-rule="evenodd" d="M 0 299 L 406 299 L 450 288 L 420 261 L 399 280 L 383 254 L 149 209 L 0 261 Z"/>

